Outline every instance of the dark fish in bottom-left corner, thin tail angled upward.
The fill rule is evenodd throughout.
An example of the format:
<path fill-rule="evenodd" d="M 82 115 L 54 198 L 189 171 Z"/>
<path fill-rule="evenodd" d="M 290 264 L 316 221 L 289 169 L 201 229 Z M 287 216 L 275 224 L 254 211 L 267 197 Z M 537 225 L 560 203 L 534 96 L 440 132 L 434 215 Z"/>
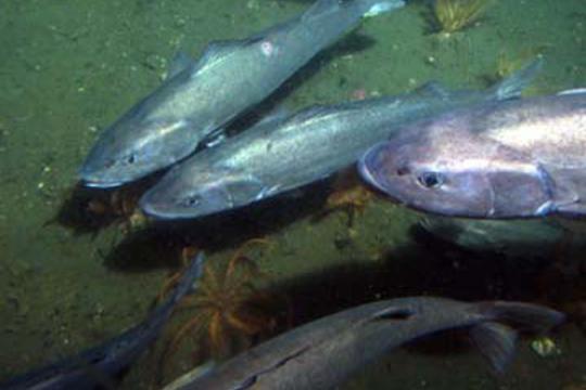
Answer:
<path fill-rule="evenodd" d="M 203 274 L 204 255 L 200 252 L 184 271 L 173 294 L 139 325 L 80 354 L 23 374 L 4 384 L 1 390 L 77 390 L 115 388 L 114 377 L 135 362 L 157 338 L 179 300 Z M 195 286 L 194 286 L 195 284 Z"/>

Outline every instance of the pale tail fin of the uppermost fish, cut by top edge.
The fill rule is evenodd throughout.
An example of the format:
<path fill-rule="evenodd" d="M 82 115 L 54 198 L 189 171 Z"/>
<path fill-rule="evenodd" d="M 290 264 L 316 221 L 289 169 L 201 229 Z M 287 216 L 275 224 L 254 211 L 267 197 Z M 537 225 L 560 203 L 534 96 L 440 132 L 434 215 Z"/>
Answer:
<path fill-rule="evenodd" d="M 404 0 L 317 0 L 303 15 L 304 20 L 332 13 L 341 8 L 355 8 L 365 17 L 391 12 L 405 5 Z"/>

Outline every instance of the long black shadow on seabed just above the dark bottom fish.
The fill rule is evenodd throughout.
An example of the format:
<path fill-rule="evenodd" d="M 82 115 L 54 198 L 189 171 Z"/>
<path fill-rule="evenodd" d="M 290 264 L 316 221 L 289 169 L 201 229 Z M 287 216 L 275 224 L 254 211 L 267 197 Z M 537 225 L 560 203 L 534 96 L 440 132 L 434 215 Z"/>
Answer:
<path fill-rule="evenodd" d="M 421 233 L 416 230 L 413 234 Z M 586 313 L 564 306 L 586 299 L 586 272 L 564 281 L 566 286 L 573 287 L 557 288 L 558 278 L 562 276 L 552 258 L 510 259 L 498 253 L 474 253 L 420 236 L 418 244 L 388 251 L 377 264 L 359 259 L 351 263 L 290 280 L 277 287 L 279 294 L 293 302 L 295 326 L 374 300 L 426 295 L 464 301 L 517 300 L 547 304 L 565 311 L 568 323 L 576 323 L 586 335 Z M 586 268 L 586 263 L 584 265 Z M 450 334 L 456 337 L 431 340 L 418 344 L 416 350 L 445 353 L 468 348 L 468 336 Z"/>

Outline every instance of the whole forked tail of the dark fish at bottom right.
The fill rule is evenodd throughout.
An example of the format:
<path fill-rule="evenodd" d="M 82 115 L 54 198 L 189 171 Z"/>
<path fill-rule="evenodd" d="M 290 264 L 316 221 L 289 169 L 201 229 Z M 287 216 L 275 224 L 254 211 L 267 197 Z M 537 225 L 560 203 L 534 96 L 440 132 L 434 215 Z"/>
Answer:
<path fill-rule="evenodd" d="M 499 374 L 505 372 L 514 355 L 518 334 L 509 324 L 519 329 L 544 333 L 565 317 L 556 310 L 522 302 L 483 302 L 479 308 L 481 315 L 489 321 L 473 326 L 470 336 Z"/>

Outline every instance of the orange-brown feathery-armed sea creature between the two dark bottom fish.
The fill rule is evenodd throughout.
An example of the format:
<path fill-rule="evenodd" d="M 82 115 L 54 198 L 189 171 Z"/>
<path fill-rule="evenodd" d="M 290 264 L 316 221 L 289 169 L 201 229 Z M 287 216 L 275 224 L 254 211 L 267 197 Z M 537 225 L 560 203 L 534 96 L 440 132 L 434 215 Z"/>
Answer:
<path fill-rule="evenodd" d="M 178 310 L 191 309 L 194 315 L 170 337 L 161 356 L 160 378 L 181 341 L 190 334 L 198 346 L 195 361 L 226 358 L 250 347 L 254 339 L 276 330 L 282 300 L 257 286 L 263 276 L 256 263 L 244 255 L 253 245 L 268 245 L 262 238 L 244 243 L 225 264 L 206 264 L 198 292 L 183 298 Z M 166 283 L 164 290 L 170 289 Z"/>

